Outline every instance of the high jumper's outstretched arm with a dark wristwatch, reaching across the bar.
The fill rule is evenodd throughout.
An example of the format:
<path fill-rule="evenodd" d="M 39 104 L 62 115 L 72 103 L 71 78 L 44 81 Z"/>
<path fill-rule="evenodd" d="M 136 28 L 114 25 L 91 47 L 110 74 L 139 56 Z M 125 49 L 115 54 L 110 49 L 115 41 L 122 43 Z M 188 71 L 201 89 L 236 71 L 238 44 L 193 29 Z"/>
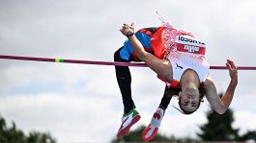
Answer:
<path fill-rule="evenodd" d="M 133 23 L 130 26 L 124 24 L 120 31 L 124 36 L 127 36 L 128 32 L 134 33 Z M 134 35 L 128 36 L 128 40 L 140 60 L 144 61 L 159 76 L 172 81 L 172 65 L 169 60 L 159 60 L 151 53 L 145 51 L 141 42 Z"/>

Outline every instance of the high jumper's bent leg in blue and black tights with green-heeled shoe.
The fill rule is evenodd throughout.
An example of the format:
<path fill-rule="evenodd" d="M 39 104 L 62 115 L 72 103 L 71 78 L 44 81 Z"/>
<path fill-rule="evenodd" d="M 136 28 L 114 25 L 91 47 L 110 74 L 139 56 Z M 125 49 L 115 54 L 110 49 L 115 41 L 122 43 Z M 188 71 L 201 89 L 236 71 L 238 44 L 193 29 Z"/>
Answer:
<path fill-rule="evenodd" d="M 151 51 L 150 39 L 143 33 L 136 33 L 135 36 L 140 40 L 142 45 L 145 47 L 146 51 Z M 127 40 L 124 46 L 117 50 L 114 54 L 115 61 L 130 62 L 130 61 L 140 61 L 134 55 L 130 42 Z M 124 104 L 124 115 L 122 118 L 122 125 L 117 132 L 117 137 L 122 138 L 126 135 L 132 125 L 134 125 L 139 119 L 140 115 L 138 111 L 135 110 L 135 105 L 131 97 L 131 76 L 128 66 L 115 66 L 116 78 L 121 91 L 123 104 Z"/>

